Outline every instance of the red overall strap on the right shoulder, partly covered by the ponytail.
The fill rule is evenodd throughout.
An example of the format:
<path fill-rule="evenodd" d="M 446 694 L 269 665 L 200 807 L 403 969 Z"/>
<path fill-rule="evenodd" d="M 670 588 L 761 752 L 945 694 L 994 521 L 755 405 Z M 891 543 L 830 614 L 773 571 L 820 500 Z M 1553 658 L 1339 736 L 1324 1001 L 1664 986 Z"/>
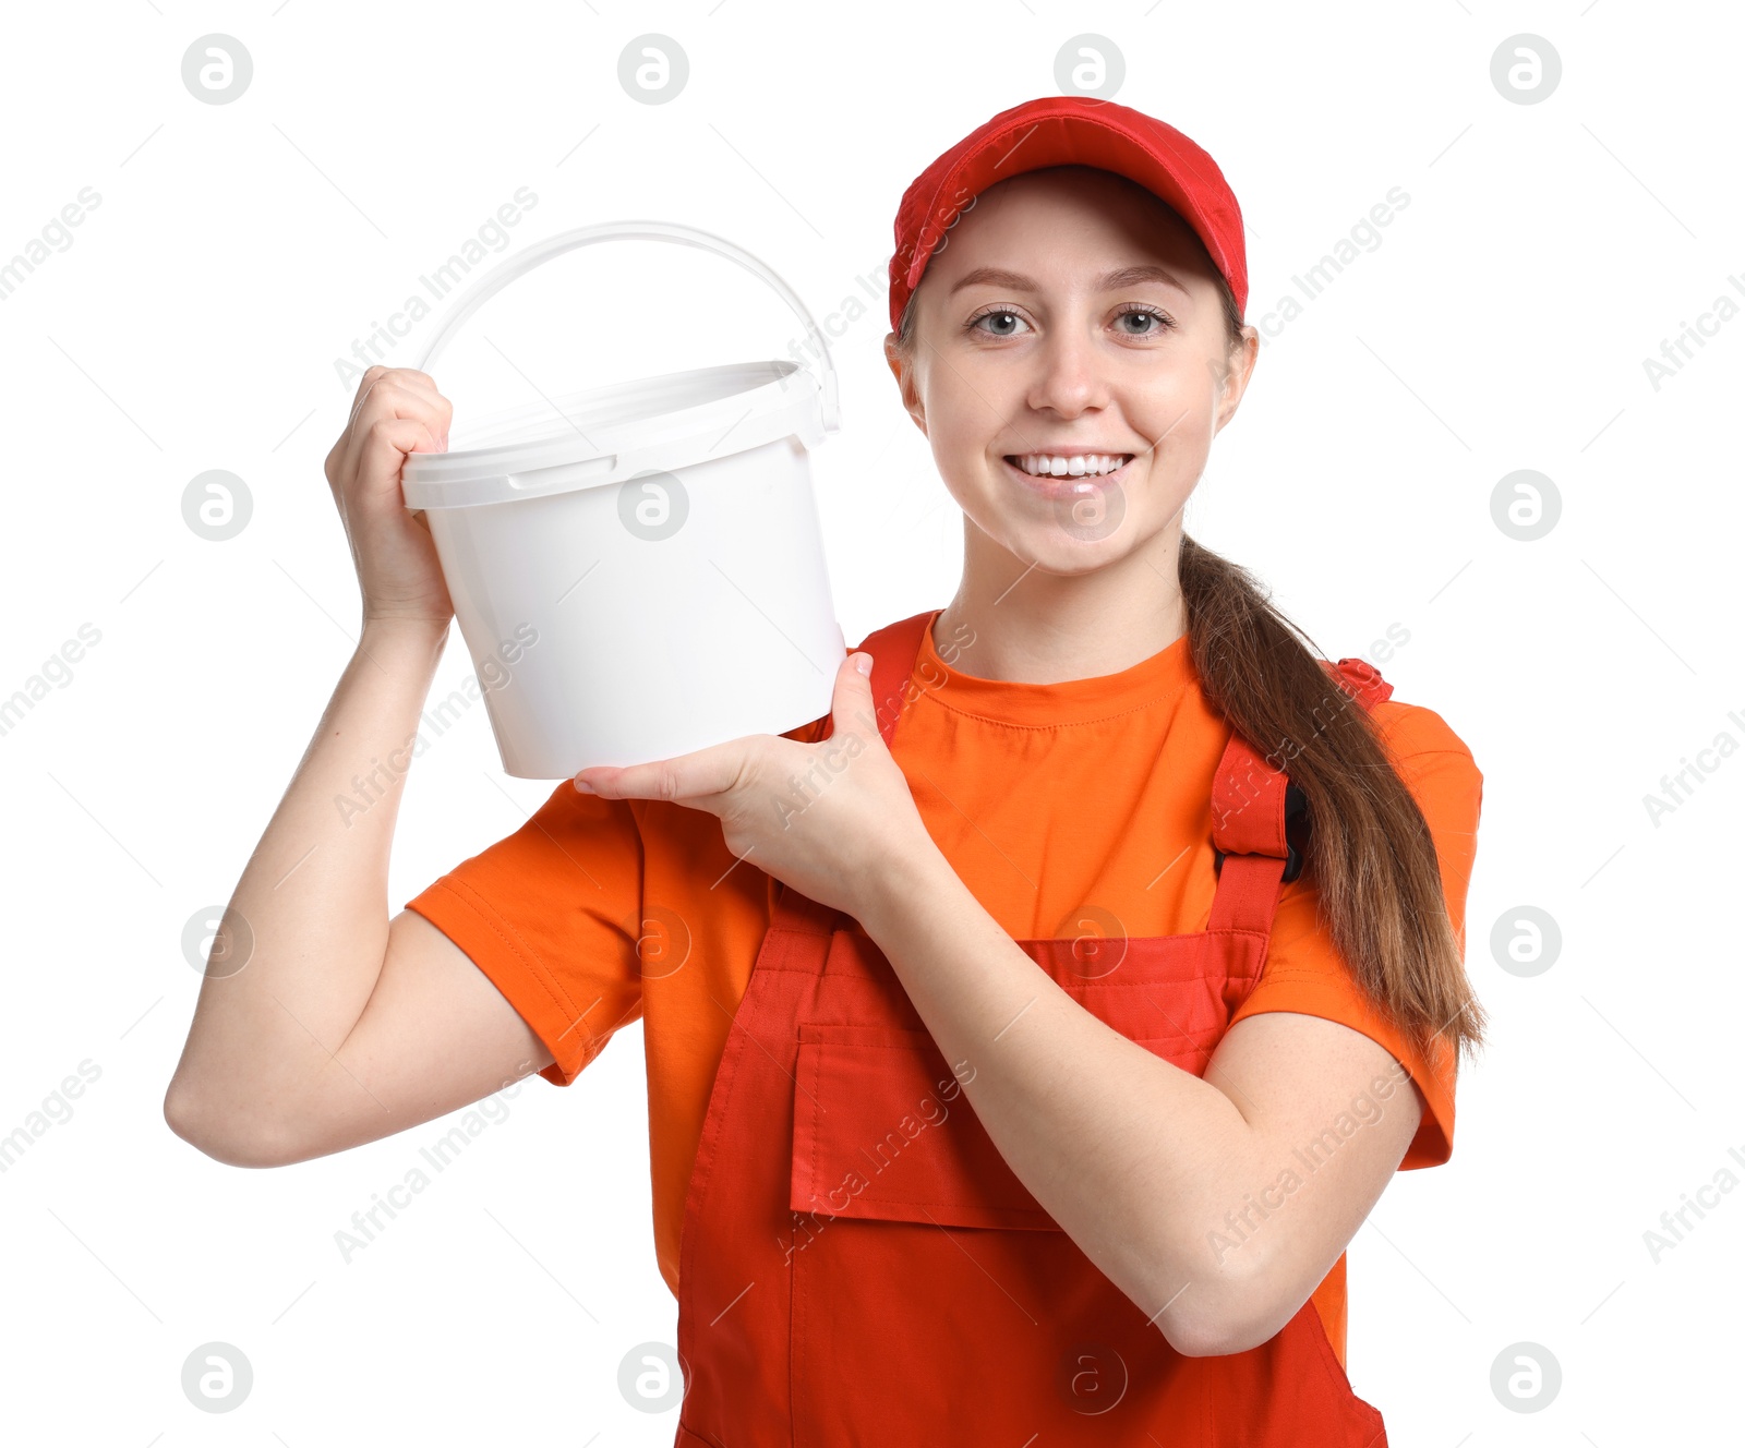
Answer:
<path fill-rule="evenodd" d="M 1321 666 L 1363 708 L 1373 708 L 1394 693 L 1373 665 L 1344 658 Z M 1255 745 L 1232 733 L 1225 745 L 1211 792 L 1211 841 L 1218 867 L 1209 930 L 1272 933 L 1279 886 L 1302 874 L 1304 860 L 1290 837 L 1291 825 L 1307 815 L 1304 792 L 1290 775 L 1263 757 Z"/>

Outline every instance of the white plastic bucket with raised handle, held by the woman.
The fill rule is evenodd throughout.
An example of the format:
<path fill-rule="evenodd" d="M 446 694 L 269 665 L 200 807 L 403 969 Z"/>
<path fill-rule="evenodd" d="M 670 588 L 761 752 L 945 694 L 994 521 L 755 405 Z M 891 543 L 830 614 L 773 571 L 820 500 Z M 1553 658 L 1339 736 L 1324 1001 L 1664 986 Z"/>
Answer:
<path fill-rule="evenodd" d="M 525 780 L 787 733 L 829 714 L 846 654 L 808 466 L 839 427 L 836 372 L 750 253 L 674 222 L 564 232 L 475 283 L 419 370 L 508 283 L 597 241 L 736 262 L 801 318 L 822 375 L 754 361 L 619 382 L 407 459 L 405 502 L 429 520 L 503 768 Z"/>

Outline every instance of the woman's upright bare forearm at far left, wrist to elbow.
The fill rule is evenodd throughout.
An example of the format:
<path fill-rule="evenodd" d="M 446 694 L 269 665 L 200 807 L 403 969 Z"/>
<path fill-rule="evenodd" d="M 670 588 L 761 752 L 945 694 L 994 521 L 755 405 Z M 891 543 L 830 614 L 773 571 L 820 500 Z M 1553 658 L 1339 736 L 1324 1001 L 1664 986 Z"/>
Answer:
<path fill-rule="evenodd" d="M 260 1141 L 358 1022 L 387 949 L 400 792 L 447 630 L 365 626 L 230 897 L 166 1111 Z"/>

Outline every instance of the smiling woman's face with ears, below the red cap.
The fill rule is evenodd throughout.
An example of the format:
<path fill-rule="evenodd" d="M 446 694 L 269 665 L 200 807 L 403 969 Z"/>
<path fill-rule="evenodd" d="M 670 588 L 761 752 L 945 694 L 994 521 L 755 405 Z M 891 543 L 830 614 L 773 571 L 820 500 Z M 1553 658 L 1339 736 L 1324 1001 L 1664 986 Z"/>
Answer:
<path fill-rule="evenodd" d="M 946 236 L 913 356 L 885 347 L 967 548 L 1056 574 L 1173 553 L 1260 347 L 1251 326 L 1228 345 L 1192 232 L 1134 181 L 1068 166 L 989 187 Z"/>

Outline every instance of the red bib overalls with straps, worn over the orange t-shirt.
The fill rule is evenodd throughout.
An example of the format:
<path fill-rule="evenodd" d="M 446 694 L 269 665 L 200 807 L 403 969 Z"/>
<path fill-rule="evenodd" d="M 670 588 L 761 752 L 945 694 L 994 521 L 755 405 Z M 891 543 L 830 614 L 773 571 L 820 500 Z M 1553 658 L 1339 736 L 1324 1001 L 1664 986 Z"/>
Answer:
<path fill-rule="evenodd" d="M 886 745 L 932 616 L 862 644 Z M 1361 659 L 1333 672 L 1365 707 L 1393 693 Z M 1295 860 L 1286 785 L 1232 736 L 1206 932 L 1017 944 L 1098 1019 L 1201 1075 L 1260 975 Z M 1248 1352 L 1171 1349 L 1007 1167 L 878 946 L 785 885 L 691 1172 L 679 1357 L 677 1448 L 1387 1443 L 1312 1300 Z"/>

